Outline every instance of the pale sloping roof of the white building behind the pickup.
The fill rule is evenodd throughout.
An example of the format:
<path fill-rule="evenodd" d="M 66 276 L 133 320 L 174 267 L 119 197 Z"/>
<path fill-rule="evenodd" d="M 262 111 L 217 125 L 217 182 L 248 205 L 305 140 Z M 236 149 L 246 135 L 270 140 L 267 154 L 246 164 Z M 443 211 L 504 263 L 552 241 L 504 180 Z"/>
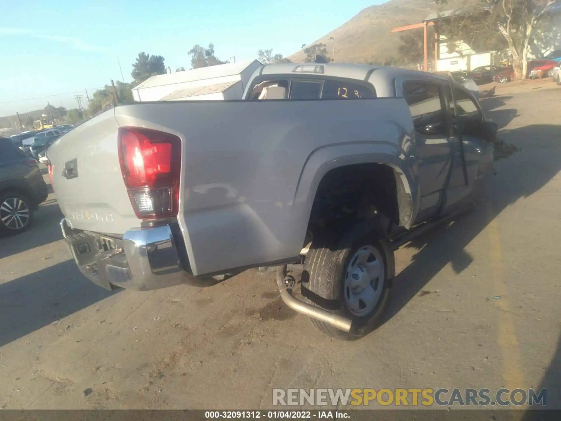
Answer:
<path fill-rule="evenodd" d="M 153 88 L 154 86 L 173 85 L 178 83 L 193 82 L 196 80 L 213 79 L 215 77 L 238 75 L 257 60 L 246 60 L 225 65 L 199 67 L 182 72 L 152 76 L 134 89 Z M 259 63 L 259 62 L 258 62 Z"/>

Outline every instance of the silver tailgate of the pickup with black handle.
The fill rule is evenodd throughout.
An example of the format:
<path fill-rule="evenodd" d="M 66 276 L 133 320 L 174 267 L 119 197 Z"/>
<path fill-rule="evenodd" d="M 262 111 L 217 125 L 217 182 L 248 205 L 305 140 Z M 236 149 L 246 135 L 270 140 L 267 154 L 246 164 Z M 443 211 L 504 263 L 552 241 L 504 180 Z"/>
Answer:
<path fill-rule="evenodd" d="M 123 234 L 140 227 L 121 175 L 114 109 L 76 127 L 47 152 L 53 190 L 72 228 Z"/>

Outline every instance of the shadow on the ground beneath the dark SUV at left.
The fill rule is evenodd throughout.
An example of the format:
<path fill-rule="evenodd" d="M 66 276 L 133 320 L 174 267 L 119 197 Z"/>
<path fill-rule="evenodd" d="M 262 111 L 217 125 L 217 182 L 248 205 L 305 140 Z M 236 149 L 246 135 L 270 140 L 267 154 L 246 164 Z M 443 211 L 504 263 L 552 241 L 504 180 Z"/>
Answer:
<path fill-rule="evenodd" d="M 0 259 L 25 250 L 62 240 L 59 222 L 63 218 L 61 209 L 54 199 L 47 200 L 35 212 L 35 220 L 29 230 L 15 236 L 0 237 Z"/>

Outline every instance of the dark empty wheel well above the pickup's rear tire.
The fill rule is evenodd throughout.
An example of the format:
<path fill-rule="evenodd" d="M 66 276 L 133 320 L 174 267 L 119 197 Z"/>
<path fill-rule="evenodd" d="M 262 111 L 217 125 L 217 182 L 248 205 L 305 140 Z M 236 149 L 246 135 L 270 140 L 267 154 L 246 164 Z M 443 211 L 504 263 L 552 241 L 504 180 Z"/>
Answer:
<path fill-rule="evenodd" d="M 398 173 L 385 164 L 352 164 L 330 170 L 316 191 L 306 244 L 309 235 L 346 225 L 350 220 L 381 214 L 388 225 L 399 225 L 403 219 L 403 215 L 400 218 L 400 206 L 405 205 L 403 193 Z"/>

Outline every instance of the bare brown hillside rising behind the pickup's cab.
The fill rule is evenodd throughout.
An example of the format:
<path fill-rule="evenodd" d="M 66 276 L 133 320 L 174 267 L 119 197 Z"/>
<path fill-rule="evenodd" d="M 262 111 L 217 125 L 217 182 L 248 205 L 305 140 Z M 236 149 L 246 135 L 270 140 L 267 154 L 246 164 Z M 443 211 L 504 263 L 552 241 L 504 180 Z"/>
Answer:
<path fill-rule="evenodd" d="M 335 42 L 335 60 L 337 62 L 378 62 L 383 63 L 392 56 L 397 56 L 399 33 L 390 33 L 397 26 L 422 22 L 431 13 L 450 10 L 474 0 L 448 0 L 445 6 L 430 0 L 390 0 L 362 10 L 348 22 L 325 34 L 316 43 L 327 44 L 329 57 L 333 55 L 332 42 Z M 305 54 L 299 51 L 289 57 L 292 61 L 303 61 Z"/>

